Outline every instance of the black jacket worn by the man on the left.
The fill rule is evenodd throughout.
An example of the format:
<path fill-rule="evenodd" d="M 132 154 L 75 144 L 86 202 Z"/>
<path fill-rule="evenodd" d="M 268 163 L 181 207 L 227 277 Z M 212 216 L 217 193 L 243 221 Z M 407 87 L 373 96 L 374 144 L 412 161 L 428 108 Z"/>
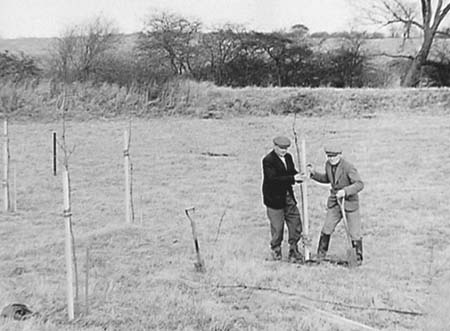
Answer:
<path fill-rule="evenodd" d="M 286 205 L 286 193 L 289 192 L 295 201 L 292 185 L 295 183 L 294 175 L 297 173 L 292 156 L 286 153 L 287 169 L 275 151 L 267 154 L 263 161 L 263 200 L 267 207 L 283 209 Z"/>

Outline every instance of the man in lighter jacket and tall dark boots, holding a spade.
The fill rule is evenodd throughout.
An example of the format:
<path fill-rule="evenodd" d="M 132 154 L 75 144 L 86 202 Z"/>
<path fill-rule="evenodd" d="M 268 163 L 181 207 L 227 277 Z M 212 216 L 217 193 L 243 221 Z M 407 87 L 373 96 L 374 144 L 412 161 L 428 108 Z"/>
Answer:
<path fill-rule="evenodd" d="M 345 199 L 345 214 L 352 238 L 352 246 L 356 251 L 357 262 L 361 264 L 363 248 L 358 192 L 364 188 L 364 183 L 353 164 L 342 157 L 340 147 L 327 146 L 325 147 L 325 154 L 327 155 L 325 173 L 317 172 L 312 166 L 308 166 L 312 179 L 319 183 L 331 184 L 330 196 L 327 201 L 327 216 L 320 234 L 317 258 L 319 260 L 324 259 L 327 254 L 330 236 L 342 219 L 339 202 Z"/>

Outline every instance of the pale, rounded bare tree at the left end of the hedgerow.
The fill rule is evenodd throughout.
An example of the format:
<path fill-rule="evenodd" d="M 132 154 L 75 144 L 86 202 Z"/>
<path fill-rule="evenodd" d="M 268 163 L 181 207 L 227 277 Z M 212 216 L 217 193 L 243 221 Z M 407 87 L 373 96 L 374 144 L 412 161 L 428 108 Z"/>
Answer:
<path fill-rule="evenodd" d="M 102 56 L 116 42 L 114 24 L 101 17 L 67 28 L 52 49 L 57 76 L 65 81 L 90 79 Z"/>

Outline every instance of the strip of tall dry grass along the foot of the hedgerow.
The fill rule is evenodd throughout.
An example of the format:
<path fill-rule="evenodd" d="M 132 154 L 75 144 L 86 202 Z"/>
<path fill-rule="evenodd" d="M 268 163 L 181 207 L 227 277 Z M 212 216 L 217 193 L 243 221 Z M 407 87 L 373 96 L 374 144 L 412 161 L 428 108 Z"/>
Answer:
<path fill-rule="evenodd" d="M 145 91 L 117 85 L 74 83 L 67 87 L 76 121 L 183 116 L 230 118 L 236 116 L 339 115 L 373 117 L 378 113 L 448 114 L 449 88 L 337 89 L 337 88 L 230 88 L 209 82 L 174 80 L 155 86 L 154 99 Z M 0 111 L 17 121 L 54 122 L 60 116 L 63 86 L 48 81 L 0 83 Z"/>

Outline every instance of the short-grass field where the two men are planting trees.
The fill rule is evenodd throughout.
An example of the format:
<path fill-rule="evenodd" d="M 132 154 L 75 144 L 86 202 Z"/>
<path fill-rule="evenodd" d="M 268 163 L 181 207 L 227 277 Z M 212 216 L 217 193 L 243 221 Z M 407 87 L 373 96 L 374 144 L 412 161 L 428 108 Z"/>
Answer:
<path fill-rule="evenodd" d="M 0 214 L 0 308 L 26 303 L 41 317 L 0 320 L 0 329 L 352 329 L 320 309 L 380 330 L 448 330 L 448 115 L 297 119 L 309 162 L 322 167 L 323 144 L 338 141 L 366 184 L 361 193 L 365 260 L 356 270 L 266 261 L 261 158 L 274 135 L 292 137 L 292 123 L 293 116 L 134 121 L 136 222 L 126 225 L 127 123 L 69 122 L 68 141 L 76 146 L 70 174 L 81 301 L 72 323 L 65 299 L 62 185 L 51 170 L 51 132 L 60 133 L 61 125 L 11 123 L 18 211 Z M 327 193 L 326 186 L 310 183 L 314 251 Z M 204 274 L 193 267 L 188 207 L 196 208 Z M 332 255 L 345 256 L 344 239 L 340 226 L 331 239 Z M 85 315 L 87 247 L 90 311 Z M 287 246 L 283 249 L 287 255 Z"/>

